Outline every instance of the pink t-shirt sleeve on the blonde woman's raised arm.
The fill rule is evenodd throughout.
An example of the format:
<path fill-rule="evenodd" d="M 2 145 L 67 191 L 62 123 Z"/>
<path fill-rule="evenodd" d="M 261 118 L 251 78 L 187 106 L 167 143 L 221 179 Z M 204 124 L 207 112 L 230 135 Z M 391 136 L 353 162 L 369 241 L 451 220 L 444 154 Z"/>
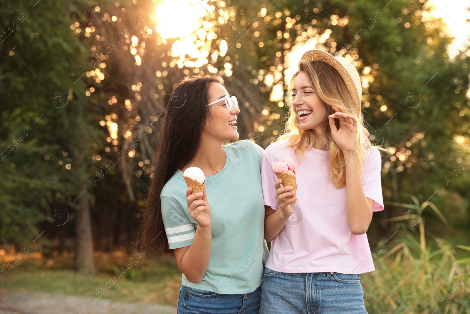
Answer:
<path fill-rule="evenodd" d="M 366 151 L 364 159 L 362 188 L 366 197 L 374 201 L 373 211 L 384 209 L 384 199 L 382 196 L 382 183 L 380 173 L 382 170 L 382 156 L 376 147 Z"/>

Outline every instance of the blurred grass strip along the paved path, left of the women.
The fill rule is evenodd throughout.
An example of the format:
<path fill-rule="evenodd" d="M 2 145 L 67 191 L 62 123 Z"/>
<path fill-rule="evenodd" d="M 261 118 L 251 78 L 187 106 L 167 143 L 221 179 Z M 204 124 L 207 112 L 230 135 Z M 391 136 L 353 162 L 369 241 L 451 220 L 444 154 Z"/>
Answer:
<path fill-rule="evenodd" d="M 121 302 L 145 301 L 165 305 L 178 303 L 181 272 L 173 256 L 162 258 L 142 256 L 137 264 L 134 258 L 134 266 L 119 273 L 120 267 L 125 266 L 125 263 L 130 265 L 129 261 L 133 256 L 121 251 L 98 252 L 106 262 L 96 256 L 100 272 L 90 277 L 74 272 L 72 253 L 55 255 L 54 258 L 45 258 L 38 252 L 33 256 L 31 253 L 24 255 L 20 264 L 13 266 L 7 274 L 0 277 L 2 289 L 15 288 L 19 291 L 47 292 L 92 299 L 106 298 Z M 6 261 L 12 256 L 16 255 L 0 256 L 3 258 L 2 265 L 6 266 Z M 114 280 L 111 281 L 111 278 Z"/>

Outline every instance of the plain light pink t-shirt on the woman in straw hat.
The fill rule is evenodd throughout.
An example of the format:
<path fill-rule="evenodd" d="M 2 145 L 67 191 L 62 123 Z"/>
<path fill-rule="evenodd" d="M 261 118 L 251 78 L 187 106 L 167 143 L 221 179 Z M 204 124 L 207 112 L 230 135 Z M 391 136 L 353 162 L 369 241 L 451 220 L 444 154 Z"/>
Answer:
<path fill-rule="evenodd" d="M 374 263 L 367 235 L 354 235 L 346 217 L 346 188 L 329 182 L 328 151 L 312 147 L 305 151 L 300 165 L 288 139 L 269 145 L 263 154 L 261 178 L 265 205 L 279 209 L 271 166 L 290 157 L 296 162 L 298 200 L 294 214 L 281 232 L 271 240 L 266 267 L 283 273 L 362 274 L 373 270 Z M 362 187 L 366 197 L 374 200 L 374 211 L 384 209 L 379 150 L 366 150 L 363 160 Z"/>

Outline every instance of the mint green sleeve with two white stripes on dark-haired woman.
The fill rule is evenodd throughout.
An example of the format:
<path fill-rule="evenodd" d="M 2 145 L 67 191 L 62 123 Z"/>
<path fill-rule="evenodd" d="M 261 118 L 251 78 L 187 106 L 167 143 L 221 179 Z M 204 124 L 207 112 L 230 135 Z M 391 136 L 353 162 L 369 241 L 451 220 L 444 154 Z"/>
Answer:
<path fill-rule="evenodd" d="M 191 245 L 195 235 L 194 225 L 186 216 L 187 209 L 171 198 L 161 196 L 163 224 L 170 249 Z"/>

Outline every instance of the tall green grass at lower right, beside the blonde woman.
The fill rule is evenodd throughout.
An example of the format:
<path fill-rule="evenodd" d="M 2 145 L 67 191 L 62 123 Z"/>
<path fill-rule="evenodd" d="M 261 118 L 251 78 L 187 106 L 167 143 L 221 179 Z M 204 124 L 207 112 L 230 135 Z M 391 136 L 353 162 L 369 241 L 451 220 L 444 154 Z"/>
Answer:
<path fill-rule="evenodd" d="M 434 241 L 427 243 L 425 235 Z M 426 234 L 422 218 L 417 231 L 402 232 L 376 258 L 375 272 L 361 276 L 368 312 L 470 314 L 470 258 L 455 258 L 458 250 L 468 253 L 470 247 Z"/>

